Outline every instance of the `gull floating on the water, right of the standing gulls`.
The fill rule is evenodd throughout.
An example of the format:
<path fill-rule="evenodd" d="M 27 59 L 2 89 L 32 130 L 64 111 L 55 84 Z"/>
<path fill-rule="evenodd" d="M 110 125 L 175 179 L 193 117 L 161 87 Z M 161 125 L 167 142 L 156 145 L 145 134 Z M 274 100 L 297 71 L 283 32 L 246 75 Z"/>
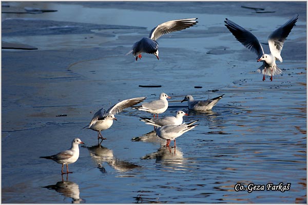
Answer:
<path fill-rule="evenodd" d="M 211 110 L 222 98 L 222 96 L 224 96 L 224 94 L 213 99 L 194 100 L 194 97 L 192 97 L 191 95 L 186 95 L 181 101 L 181 103 L 187 101 L 189 110 L 206 111 Z"/>

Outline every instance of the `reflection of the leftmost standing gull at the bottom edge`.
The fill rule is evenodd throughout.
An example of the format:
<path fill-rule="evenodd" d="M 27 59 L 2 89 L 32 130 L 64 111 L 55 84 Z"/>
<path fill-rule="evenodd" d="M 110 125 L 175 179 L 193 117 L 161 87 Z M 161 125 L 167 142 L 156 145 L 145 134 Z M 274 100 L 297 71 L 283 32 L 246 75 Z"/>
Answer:
<path fill-rule="evenodd" d="M 56 192 L 61 193 L 65 197 L 72 198 L 72 203 L 80 203 L 81 201 L 83 201 L 83 199 L 79 197 L 80 191 L 78 184 L 72 181 L 68 181 L 68 174 L 66 176 L 66 181 L 63 180 L 62 175 L 62 181 L 58 181 L 55 185 L 48 185 L 43 188 L 55 190 Z"/>

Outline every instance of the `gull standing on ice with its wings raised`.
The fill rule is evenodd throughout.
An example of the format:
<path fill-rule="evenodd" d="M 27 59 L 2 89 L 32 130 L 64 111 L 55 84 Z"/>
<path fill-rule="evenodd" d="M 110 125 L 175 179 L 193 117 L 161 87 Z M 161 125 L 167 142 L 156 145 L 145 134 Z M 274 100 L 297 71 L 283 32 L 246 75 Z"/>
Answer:
<path fill-rule="evenodd" d="M 89 126 L 86 126 L 86 127 L 88 127 L 87 129 L 91 129 L 91 130 L 98 132 L 98 144 L 101 145 L 102 141 L 106 139 L 101 134 L 101 131 L 107 130 L 108 128 L 110 128 L 113 124 L 113 120 L 117 120 L 117 118 L 114 117 L 114 114 L 122 112 L 125 108 L 129 108 L 131 106 L 137 105 L 145 99 L 146 97 L 136 97 L 136 98 L 131 98 L 131 99 L 125 99 L 121 101 L 120 103 L 113 105 L 107 111 L 104 108 L 101 108 L 99 111 L 97 111 L 94 114 Z M 101 142 L 99 143 L 100 139 L 101 139 Z"/>

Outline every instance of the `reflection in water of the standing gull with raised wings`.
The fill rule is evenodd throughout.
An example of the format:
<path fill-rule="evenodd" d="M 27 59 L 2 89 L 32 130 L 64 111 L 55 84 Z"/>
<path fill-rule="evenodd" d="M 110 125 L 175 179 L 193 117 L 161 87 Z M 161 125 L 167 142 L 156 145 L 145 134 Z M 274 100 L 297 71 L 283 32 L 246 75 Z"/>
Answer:
<path fill-rule="evenodd" d="M 105 168 L 103 167 L 104 162 L 107 162 L 110 167 L 120 172 L 126 172 L 139 167 L 138 165 L 134 165 L 133 163 L 122 161 L 117 157 L 114 157 L 113 151 L 106 147 L 96 145 L 87 148 L 90 152 L 91 158 L 103 173 L 106 172 Z"/>

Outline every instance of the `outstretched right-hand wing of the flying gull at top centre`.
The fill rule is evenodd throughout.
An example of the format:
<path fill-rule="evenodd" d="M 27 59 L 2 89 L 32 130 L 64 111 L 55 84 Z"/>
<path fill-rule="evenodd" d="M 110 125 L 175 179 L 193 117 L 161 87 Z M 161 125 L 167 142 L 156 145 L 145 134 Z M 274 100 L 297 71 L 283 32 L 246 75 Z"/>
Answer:
<path fill-rule="evenodd" d="M 178 20 L 169 20 L 163 24 L 158 25 L 153 28 L 150 32 L 149 38 L 156 40 L 164 34 L 171 33 L 174 31 L 180 31 L 191 26 L 196 25 L 198 22 L 196 21 L 198 18 L 184 18 Z"/>

